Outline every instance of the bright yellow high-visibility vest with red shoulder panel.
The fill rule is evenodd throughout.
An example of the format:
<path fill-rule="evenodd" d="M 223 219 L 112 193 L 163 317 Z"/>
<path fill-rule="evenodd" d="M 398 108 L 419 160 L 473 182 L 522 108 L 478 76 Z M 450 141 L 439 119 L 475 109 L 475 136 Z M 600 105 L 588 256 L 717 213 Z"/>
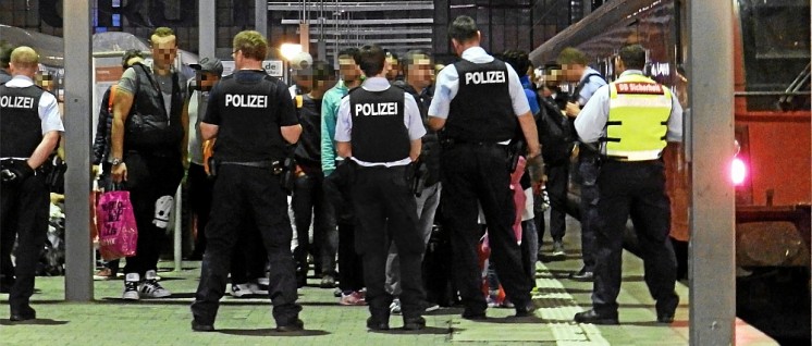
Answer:
<path fill-rule="evenodd" d="M 668 88 L 642 75 L 626 75 L 610 84 L 606 156 L 624 161 L 660 158 L 672 110 Z"/>

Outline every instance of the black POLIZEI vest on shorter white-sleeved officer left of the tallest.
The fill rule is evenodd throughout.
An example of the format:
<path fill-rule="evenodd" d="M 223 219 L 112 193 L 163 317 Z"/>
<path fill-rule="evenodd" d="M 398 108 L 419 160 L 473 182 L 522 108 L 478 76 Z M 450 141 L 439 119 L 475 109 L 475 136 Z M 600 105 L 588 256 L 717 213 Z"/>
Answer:
<path fill-rule="evenodd" d="M 393 162 L 409 157 L 409 134 L 404 122 L 404 91 L 355 88 L 349 91 L 353 118 L 353 157 L 365 162 Z"/>

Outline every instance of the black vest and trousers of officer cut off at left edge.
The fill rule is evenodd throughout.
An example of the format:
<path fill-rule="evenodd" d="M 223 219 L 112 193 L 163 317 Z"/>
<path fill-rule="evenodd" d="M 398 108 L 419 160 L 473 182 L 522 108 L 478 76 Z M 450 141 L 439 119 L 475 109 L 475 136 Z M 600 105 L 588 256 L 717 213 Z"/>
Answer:
<path fill-rule="evenodd" d="M 0 85 L 0 232 L 12 320 L 35 318 L 29 307 L 34 294 L 34 275 L 48 232 L 48 188 L 41 169 L 32 172 L 29 158 L 42 141 L 39 99 L 46 92 L 39 87 L 10 88 Z M 12 178 L 10 174 L 16 175 Z M 21 175 L 22 174 L 22 175 Z M 10 256 L 17 236 L 16 268 Z M 9 260 L 5 263 L 5 259 Z M 16 276 L 15 280 L 12 277 Z"/>

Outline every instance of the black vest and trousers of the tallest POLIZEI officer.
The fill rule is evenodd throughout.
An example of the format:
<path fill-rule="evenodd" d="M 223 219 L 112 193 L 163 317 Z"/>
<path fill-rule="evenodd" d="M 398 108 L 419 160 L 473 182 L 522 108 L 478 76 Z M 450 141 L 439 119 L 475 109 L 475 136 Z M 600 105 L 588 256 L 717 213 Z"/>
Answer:
<path fill-rule="evenodd" d="M 476 248 L 481 233 L 477 201 L 488 222 L 491 256 L 507 297 L 517 309 L 530 304 L 531 283 L 522 269 L 521 251 L 513 232 L 516 213 L 509 189 L 507 146 L 500 145 L 514 138 L 518 123 L 504 62 L 475 64 L 462 60 L 454 66 L 460 77 L 442 139 L 443 215 L 453 234 L 454 272 L 466 307 L 464 317 L 478 318 L 484 316 L 488 305 L 479 284 Z M 499 78 L 477 84 L 483 78 L 468 78 L 466 74 Z"/>

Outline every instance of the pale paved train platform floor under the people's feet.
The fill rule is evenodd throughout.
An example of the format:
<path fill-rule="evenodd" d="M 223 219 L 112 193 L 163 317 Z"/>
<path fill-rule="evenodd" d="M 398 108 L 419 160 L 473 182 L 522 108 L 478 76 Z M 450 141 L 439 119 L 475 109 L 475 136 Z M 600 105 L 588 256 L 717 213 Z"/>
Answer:
<path fill-rule="evenodd" d="M 32 345 L 687 345 L 689 336 L 688 288 L 677 285 L 681 297 L 672 325 L 655 322 L 654 301 L 643 282 L 642 261 L 624 252 L 624 282 L 618 302 L 620 325 L 603 326 L 573 322 L 576 312 L 590 308 L 591 283 L 568 280 L 581 264 L 578 223 L 569 222 L 566 260 L 539 262 L 533 317 L 513 318 L 513 309 L 490 308 L 488 320 L 468 321 L 460 308 L 442 308 L 426 316 L 427 329 L 369 332 L 367 307 L 339 305 L 333 289 L 317 287 L 310 279 L 299 291 L 300 318 L 305 331 L 274 331 L 267 298 L 223 297 L 214 333 L 190 330 L 189 304 L 198 283 L 200 262 L 185 261 L 182 271 L 170 271 L 161 262 L 162 284 L 173 295 L 163 299 L 121 300 L 122 280 L 95 282 L 94 302 L 65 302 L 64 277 L 37 277 L 33 307 L 39 319 L 11 322 L 8 295 L 0 295 L 0 344 Z M 544 248 L 550 250 L 548 244 Z M 777 345 L 764 333 L 737 320 L 736 345 Z"/>

